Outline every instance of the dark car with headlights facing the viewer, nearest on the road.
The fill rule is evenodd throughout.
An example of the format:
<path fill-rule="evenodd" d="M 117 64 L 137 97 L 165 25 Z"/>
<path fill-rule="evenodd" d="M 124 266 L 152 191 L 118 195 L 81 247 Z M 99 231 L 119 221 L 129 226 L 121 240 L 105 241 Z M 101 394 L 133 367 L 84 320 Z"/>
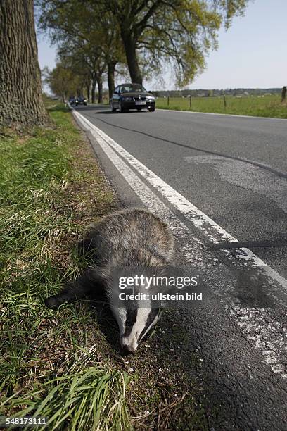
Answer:
<path fill-rule="evenodd" d="M 113 112 L 117 109 L 120 112 L 129 111 L 129 109 L 155 111 L 155 96 L 140 84 L 121 84 L 115 88 L 110 107 Z"/>

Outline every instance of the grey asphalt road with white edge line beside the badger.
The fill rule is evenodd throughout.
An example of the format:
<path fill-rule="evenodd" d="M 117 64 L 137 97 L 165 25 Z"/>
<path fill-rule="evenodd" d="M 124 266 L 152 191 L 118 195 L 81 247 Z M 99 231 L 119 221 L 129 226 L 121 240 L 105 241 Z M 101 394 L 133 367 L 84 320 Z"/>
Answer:
<path fill-rule="evenodd" d="M 123 203 L 170 223 L 177 263 L 215 268 L 208 304 L 177 323 L 202 357 L 210 427 L 287 430 L 287 120 L 77 112 Z M 242 261 L 267 264 L 259 305 L 238 303 L 228 268 Z"/>

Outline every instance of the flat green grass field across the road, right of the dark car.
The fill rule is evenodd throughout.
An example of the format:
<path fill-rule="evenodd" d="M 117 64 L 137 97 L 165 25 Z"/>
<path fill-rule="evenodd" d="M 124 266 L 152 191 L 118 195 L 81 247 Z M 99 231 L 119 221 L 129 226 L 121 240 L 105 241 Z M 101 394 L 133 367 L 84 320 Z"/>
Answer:
<path fill-rule="evenodd" d="M 258 117 L 287 118 L 287 105 L 281 104 L 281 96 L 226 96 L 226 108 L 223 96 L 192 97 L 191 107 L 189 98 L 170 97 L 156 99 L 157 108 L 175 109 L 177 111 L 198 111 L 210 113 L 227 113 L 234 115 L 254 115 Z"/>

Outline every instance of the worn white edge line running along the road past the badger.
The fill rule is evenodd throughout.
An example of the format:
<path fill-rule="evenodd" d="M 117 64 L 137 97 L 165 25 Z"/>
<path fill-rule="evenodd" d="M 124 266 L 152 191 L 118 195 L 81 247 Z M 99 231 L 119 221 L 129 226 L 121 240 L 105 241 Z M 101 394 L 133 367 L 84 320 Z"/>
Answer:
<path fill-rule="evenodd" d="M 79 112 L 73 110 L 73 114 L 82 123 L 84 128 L 89 130 L 96 138 L 96 141 L 106 153 L 110 161 L 120 171 L 125 180 L 134 189 L 134 192 L 139 196 L 141 201 L 148 209 L 160 215 L 167 223 L 169 223 L 174 235 L 180 239 L 185 239 L 185 257 L 189 262 L 195 263 L 196 260 L 202 260 L 200 251 L 201 243 L 199 239 L 191 234 L 188 227 L 181 223 L 180 220 L 170 211 L 167 206 L 156 196 L 152 190 L 141 180 L 141 178 L 129 168 L 129 165 L 141 174 L 146 181 L 155 187 L 162 196 L 170 201 L 170 203 L 183 214 L 186 219 L 191 221 L 201 232 L 203 232 L 210 242 L 219 243 L 222 241 L 238 242 L 236 238 L 226 232 L 222 227 L 217 225 L 212 219 L 200 211 L 196 206 L 191 204 L 184 196 L 179 194 L 170 185 L 161 180 L 158 175 L 155 175 L 151 170 L 146 168 L 132 154 L 122 148 L 117 142 L 111 139 L 101 129 L 92 124 L 87 118 Z M 117 152 L 115 152 L 115 151 Z M 122 156 L 122 158 L 120 156 Z M 122 159 L 127 161 L 125 163 Z M 187 240 L 187 241 L 186 241 Z M 222 251 L 231 260 L 241 262 L 246 266 L 264 268 L 265 275 L 269 278 L 269 282 L 279 283 L 283 289 L 287 287 L 287 280 L 281 277 L 276 271 L 267 266 L 260 258 L 249 249 L 236 249 L 233 251 L 222 249 Z M 196 256 L 196 257 L 195 257 Z M 270 280 L 271 279 L 271 280 Z M 275 287 L 274 285 L 274 287 Z M 218 293 L 218 290 L 217 292 Z M 226 292 L 225 292 L 226 293 Z M 274 373 L 286 378 L 287 373 L 283 364 L 279 360 L 280 350 L 287 349 L 286 337 L 282 336 L 282 332 L 287 334 L 287 330 L 281 326 L 279 322 L 268 316 L 268 311 L 264 309 L 239 308 L 234 305 L 232 299 L 229 299 L 231 305 L 230 315 L 236 320 L 239 327 L 245 332 L 250 342 L 253 342 L 256 349 L 260 349 L 265 361 L 271 366 Z"/>

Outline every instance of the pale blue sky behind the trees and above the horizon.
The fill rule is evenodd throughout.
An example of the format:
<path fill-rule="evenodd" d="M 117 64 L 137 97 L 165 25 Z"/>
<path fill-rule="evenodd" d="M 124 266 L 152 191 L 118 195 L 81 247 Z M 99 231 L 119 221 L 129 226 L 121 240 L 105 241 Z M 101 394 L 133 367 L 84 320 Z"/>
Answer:
<path fill-rule="evenodd" d="M 207 58 L 205 71 L 191 89 L 271 88 L 287 85 L 287 0 L 250 1 L 245 16 L 227 32 L 219 31 L 219 48 Z M 56 46 L 38 35 L 40 67 L 55 66 Z M 173 89 L 172 72 L 164 83 L 144 82 L 148 89 Z M 119 82 L 116 82 L 118 84 Z"/>

